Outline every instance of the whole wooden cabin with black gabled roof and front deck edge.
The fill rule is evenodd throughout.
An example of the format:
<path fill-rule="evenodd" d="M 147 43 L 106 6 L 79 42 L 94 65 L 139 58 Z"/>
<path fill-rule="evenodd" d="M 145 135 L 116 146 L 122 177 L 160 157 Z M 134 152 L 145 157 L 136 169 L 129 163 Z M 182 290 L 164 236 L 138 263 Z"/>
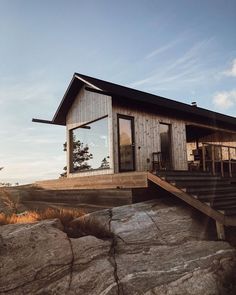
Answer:
<path fill-rule="evenodd" d="M 196 177 L 204 171 L 209 177 L 234 179 L 236 174 L 235 117 L 78 73 L 53 119 L 33 121 L 66 126 L 67 179 L 75 178 L 77 188 L 86 188 L 82 183 L 88 179 L 94 187 L 97 181 L 97 188 L 101 183 L 144 187 L 149 180 L 167 190 L 174 186 L 186 201 L 187 185 L 176 188 L 171 178 L 163 183 L 163 175 L 176 171 L 181 179 L 181 173 Z M 81 150 L 83 159 L 78 161 Z"/>

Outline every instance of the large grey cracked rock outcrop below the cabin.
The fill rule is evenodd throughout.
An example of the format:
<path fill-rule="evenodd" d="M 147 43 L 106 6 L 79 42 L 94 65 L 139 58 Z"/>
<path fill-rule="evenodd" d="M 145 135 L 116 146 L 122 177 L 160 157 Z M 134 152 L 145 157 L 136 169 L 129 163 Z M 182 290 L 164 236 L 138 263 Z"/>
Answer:
<path fill-rule="evenodd" d="M 86 218 L 114 237 L 70 238 L 58 220 L 1 226 L 0 294 L 236 294 L 236 250 L 195 211 L 156 200 Z"/>

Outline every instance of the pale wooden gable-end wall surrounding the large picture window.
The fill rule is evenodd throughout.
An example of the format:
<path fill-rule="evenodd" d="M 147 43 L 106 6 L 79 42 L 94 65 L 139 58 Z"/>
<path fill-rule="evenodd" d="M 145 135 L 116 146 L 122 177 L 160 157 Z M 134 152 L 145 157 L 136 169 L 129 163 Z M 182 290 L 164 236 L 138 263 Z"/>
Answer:
<path fill-rule="evenodd" d="M 99 171 L 68 173 L 68 177 L 114 173 L 111 96 L 88 91 L 85 87 L 80 90 L 66 117 L 67 142 L 70 142 L 70 130 L 106 115 L 108 116 L 108 140 L 111 168 Z M 70 163 L 70 153 L 70 145 L 68 145 L 67 167 L 71 167 L 72 165 L 72 163 Z M 68 171 L 69 170 L 70 169 L 68 169 Z"/>

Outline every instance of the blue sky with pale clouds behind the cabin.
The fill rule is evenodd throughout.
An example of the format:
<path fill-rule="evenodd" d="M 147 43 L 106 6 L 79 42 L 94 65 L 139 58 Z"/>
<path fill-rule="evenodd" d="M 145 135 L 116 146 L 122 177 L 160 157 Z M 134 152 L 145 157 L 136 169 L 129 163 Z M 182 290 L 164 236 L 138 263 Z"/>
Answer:
<path fill-rule="evenodd" d="M 57 178 L 74 72 L 236 115 L 236 1 L 0 0 L 0 182 Z"/>

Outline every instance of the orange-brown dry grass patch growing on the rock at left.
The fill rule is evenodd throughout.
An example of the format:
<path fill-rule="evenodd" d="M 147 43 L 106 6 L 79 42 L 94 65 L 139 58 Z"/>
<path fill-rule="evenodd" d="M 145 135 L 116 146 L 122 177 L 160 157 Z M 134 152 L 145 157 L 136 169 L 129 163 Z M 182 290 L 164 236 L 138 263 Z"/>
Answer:
<path fill-rule="evenodd" d="M 102 225 L 97 219 L 86 216 L 86 213 L 79 209 L 52 209 L 48 208 L 42 212 L 27 211 L 22 214 L 5 214 L 0 213 L 0 225 L 15 223 L 32 223 L 40 220 L 58 218 L 64 232 L 70 238 L 79 238 L 82 236 L 92 235 L 100 239 L 112 238 L 113 233 L 106 226 Z"/>

